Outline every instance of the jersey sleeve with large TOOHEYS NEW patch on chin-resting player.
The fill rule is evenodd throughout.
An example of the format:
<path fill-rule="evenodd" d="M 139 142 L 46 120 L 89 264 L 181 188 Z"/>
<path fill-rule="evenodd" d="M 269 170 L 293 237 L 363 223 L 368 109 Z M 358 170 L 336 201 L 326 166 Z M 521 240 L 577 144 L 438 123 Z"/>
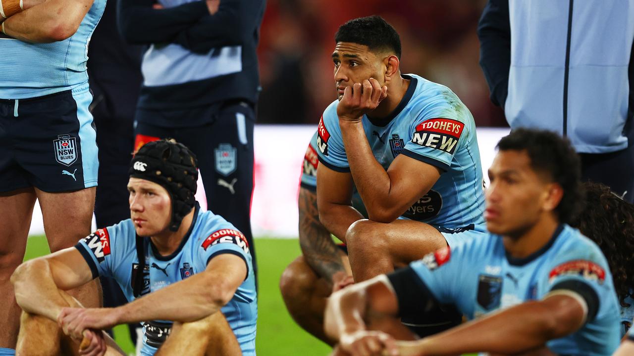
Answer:
<path fill-rule="evenodd" d="M 442 99 L 418 113 L 410 127 L 412 139 L 405 144 L 403 154 L 446 172 L 456 151 L 467 141 L 469 127 L 465 118 L 470 113 L 455 94 L 439 96 Z"/>

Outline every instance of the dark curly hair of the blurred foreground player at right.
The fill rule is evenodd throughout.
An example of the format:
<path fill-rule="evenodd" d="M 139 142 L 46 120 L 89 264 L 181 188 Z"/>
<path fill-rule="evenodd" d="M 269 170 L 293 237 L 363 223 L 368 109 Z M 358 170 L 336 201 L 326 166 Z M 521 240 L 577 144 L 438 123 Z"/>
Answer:
<path fill-rule="evenodd" d="M 581 162 L 570 141 L 547 130 L 517 129 L 502 137 L 496 147 L 500 151 L 526 151 L 531 168 L 561 186 L 564 196 L 555 212 L 560 222 L 569 224 L 583 207 Z"/>

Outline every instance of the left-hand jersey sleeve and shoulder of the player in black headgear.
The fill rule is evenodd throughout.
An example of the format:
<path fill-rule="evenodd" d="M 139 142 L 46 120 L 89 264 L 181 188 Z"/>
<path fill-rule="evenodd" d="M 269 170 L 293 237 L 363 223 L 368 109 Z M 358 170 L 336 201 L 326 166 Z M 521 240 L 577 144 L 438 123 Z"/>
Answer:
<path fill-rule="evenodd" d="M 93 278 L 113 277 L 113 271 L 118 265 L 117 258 L 126 255 L 123 250 L 128 248 L 126 239 L 122 236 L 126 234 L 126 230 L 122 224 L 104 227 L 79 240 L 75 245 L 93 272 Z"/>

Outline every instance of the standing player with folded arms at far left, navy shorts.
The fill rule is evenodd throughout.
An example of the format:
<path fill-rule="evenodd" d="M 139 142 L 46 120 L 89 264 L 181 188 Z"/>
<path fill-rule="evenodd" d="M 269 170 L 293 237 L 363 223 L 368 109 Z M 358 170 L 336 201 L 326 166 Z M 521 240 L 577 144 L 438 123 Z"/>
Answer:
<path fill-rule="evenodd" d="M 0 1 L 0 355 L 13 355 L 22 263 L 36 199 L 51 251 L 89 234 L 97 185 L 87 46 L 105 0 Z M 96 283 L 72 292 L 99 303 Z"/>

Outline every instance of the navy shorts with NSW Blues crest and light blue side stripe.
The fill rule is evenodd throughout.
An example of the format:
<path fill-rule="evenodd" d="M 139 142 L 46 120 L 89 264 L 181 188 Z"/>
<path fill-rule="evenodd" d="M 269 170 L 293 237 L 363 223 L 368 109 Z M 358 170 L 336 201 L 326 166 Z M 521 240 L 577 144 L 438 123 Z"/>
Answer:
<path fill-rule="evenodd" d="M 0 192 L 49 193 L 97 185 L 96 131 L 88 86 L 29 99 L 0 99 Z"/>

